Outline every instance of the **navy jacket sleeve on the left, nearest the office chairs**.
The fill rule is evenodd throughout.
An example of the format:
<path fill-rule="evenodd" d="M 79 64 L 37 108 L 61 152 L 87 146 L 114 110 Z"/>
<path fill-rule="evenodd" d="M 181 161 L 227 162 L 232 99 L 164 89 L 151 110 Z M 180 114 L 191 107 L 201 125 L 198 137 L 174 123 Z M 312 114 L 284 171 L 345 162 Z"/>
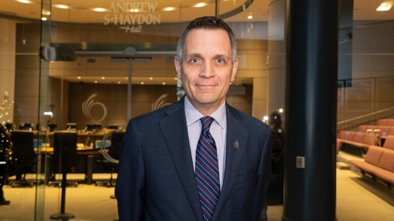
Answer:
<path fill-rule="evenodd" d="M 119 172 L 115 195 L 119 220 L 144 219 L 144 164 L 140 140 L 133 120 L 130 120 L 120 148 Z"/>

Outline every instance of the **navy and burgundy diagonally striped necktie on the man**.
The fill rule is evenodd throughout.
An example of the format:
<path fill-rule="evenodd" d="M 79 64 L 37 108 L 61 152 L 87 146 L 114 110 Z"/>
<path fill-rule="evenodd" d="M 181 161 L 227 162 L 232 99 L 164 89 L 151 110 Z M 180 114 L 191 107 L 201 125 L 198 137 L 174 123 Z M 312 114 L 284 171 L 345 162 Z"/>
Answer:
<path fill-rule="evenodd" d="M 220 196 L 219 164 L 216 143 L 209 128 L 215 120 L 203 117 L 201 135 L 195 151 L 195 181 L 204 220 L 211 220 Z"/>

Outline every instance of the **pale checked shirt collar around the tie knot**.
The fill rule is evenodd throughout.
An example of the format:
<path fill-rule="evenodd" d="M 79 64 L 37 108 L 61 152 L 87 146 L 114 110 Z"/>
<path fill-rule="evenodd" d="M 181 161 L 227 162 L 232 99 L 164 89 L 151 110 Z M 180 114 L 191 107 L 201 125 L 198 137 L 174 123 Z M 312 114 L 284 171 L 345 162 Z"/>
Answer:
<path fill-rule="evenodd" d="M 194 106 L 189 102 L 187 96 L 185 96 L 185 114 L 187 126 L 190 126 L 191 124 L 195 123 L 195 121 L 198 121 L 202 117 L 205 117 L 202 113 L 200 113 L 197 109 L 194 108 Z M 226 101 L 224 101 L 223 104 L 209 116 L 213 117 L 220 127 L 225 128 L 227 125 Z"/>

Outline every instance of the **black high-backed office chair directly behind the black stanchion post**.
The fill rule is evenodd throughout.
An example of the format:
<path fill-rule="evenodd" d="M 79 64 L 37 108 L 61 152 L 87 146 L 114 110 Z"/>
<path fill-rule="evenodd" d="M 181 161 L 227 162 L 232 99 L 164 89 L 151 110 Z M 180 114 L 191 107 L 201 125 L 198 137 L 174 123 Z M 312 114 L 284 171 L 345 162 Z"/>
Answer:
<path fill-rule="evenodd" d="M 56 173 L 62 173 L 63 179 L 60 181 L 50 181 L 48 186 L 65 185 L 78 186 L 78 182 L 67 181 L 67 173 L 75 171 L 77 159 L 77 133 L 75 131 L 62 130 L 54 132 L 54 154 L 52 156 L 53 178 Z"/>

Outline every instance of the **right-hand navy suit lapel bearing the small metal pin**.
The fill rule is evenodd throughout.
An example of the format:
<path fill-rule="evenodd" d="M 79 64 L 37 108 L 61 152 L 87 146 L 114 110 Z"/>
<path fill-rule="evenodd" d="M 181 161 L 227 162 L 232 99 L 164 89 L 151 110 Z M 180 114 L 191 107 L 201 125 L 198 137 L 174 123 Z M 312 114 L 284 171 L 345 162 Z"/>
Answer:
<path fill-rule="evenodd" d="M 249 135 L 249 130 L 241 124 L 243 117 L 239 115 L 239 113 L 235 112 L 233 108 L 227 104 L 226 114 L 226 163 L 224 169 L 223 187 L 220 191 L 219 201 L 215 208 L 212 221 L 218 218 L 223 205 L 231 193 L 231 189 L 238 174 L 239 164 L 241 163 L 242 155 L 246 148 Z M 237 144 L 236 141 L 238 141 Z M 236 148 L 235 145 L 237 145 L 238 148 Z"/>

